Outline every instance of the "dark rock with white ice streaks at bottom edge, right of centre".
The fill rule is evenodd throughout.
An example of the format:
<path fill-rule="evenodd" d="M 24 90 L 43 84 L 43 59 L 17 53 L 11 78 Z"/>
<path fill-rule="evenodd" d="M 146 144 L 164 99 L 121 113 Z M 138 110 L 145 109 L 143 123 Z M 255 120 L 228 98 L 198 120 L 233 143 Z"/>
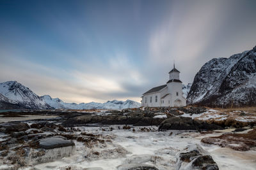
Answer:
<path fill-rule="evenodd" d="M 176 169 L 211 169 L 218 170 L 218 165 L 200 145 L 187 146 L 176 155 Z"/>

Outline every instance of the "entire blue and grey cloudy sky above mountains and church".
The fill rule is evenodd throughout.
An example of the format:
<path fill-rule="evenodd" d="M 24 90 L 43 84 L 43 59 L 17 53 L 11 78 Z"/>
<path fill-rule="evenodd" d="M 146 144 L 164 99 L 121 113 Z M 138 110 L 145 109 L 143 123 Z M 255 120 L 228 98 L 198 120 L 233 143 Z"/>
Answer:
<path fill-rule="evenodd" d="M 140 101 L 173 67 L 256 45 L 256 1 L 0 1 L 0 82 L 65 102 Z"/>

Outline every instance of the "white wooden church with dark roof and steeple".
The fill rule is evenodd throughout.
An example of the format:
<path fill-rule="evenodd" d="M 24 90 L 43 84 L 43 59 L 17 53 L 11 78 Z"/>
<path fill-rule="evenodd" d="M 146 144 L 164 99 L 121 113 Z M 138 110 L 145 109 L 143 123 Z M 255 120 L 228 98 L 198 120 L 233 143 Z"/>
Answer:
<path fill-rule="evenodd" d="M 182 93 L 180 72 L 175 68 L 169 72 L 169 81 L 165 85 L 154 87 L 142 96 L 141 106 L 144 107 L 180 107 L 186 106 L 186 98 Z"/>

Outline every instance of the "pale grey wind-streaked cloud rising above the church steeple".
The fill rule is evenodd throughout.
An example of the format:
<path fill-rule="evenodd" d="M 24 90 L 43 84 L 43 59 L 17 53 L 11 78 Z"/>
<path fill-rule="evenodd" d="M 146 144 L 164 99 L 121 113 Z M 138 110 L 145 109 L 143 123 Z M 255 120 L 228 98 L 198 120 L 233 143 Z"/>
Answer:
<path fill-rule="evenodd" d="M 191 82 L 197 71 L 195 68 L 204 64 L 200 58 L 205 58 L 205 50 L 224 22 L 225 7 L 225 4 L 213 1 L 173 3 L 170 13 L 149 38 L 150 61 L 170 67 L 175 60 L 185 75 L 182 77 L 185 83 Z"/>

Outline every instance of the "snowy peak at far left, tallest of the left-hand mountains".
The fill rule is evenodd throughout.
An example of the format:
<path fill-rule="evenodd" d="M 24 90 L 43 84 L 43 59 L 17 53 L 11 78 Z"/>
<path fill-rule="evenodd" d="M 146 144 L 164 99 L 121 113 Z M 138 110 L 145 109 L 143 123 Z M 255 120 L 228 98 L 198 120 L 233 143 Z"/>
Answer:
<path fill-rule="evenodd" d="M 18 83 L 17 81 L 6 81 L 0 83 L 0 94 L 4 102 L 17 104 L 20 108 L 29 109 L 49 109 L 51 108 L 39 96 L 32 92 L 28 87 Z M 8 101 L 6 101 L 6 99 Z"/>

